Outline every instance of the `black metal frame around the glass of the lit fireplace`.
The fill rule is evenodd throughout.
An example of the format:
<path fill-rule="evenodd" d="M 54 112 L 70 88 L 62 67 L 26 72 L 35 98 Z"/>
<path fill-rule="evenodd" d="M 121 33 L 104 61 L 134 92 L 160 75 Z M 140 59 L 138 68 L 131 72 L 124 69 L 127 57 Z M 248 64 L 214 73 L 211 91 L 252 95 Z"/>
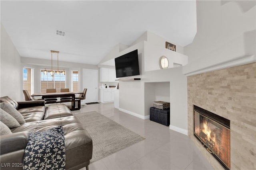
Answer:
<path fill-rule="evenodd" d="M 201 107 L 198 107 L 196 105 L 193 105 L 193 131 L 194 131 L 194 136 L 196 137 L 196 139 L 198 139 L 198 141 L 200 141 L 200 143 L 204 146 L 204 148 L 206 150 L 208 150 L 208 152 L 210 152 L 210 154 L 212 154 L 212 156 L 218 160 L 218 162 L 223 166 L 223 168 L 225 168 L 226 170 L 230 170 L 230 168 L 224 164 L 224 162 L 222 162 L 222 160 L 216 155 L 214 154 L 214 152 L 212 152 L 210 150 L 210 148 L 207 147 L 207 145 L 204 144 L 204 142 L 196 135 L 195 133 L 195 122 L 194 122 L 194 111 L 198 112 L 199 114 L 203 115 L 204 117 L 211 119 L 213 121 L 216 121 L 217 123 L 219 123 L 220 125 L 226 127 L 227 129 L 230 130 L 230 120 L 221 117 L 219 115 L 216 115 L 208 110 L 205 110 Z"/>

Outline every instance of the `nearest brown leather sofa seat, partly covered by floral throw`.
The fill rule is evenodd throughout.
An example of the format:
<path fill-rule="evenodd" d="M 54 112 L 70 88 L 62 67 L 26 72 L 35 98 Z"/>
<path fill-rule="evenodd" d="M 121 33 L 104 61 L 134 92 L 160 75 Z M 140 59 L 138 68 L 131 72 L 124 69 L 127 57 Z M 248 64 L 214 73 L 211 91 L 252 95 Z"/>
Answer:
<path fill-rule="evenodd" d="M 84 163 L 92 158 L 92 139 L 82 123 L 74 116 L 27 122 L 11 129 L 12 133 L 28 131 L 46 131 L 52 127 L 62 126 L 66 149 L 66 169 Z M 79 159 L 76 157 L 79 155 Z"/>

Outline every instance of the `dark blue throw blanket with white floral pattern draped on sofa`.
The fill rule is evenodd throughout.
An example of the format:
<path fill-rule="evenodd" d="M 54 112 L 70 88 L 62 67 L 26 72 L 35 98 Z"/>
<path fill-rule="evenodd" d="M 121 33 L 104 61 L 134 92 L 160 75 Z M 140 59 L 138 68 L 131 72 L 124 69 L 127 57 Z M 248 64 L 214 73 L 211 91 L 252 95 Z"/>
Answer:
<path fill-rule="evenodd" d="M 65 170 L 65 142 L 62 126 L 32 132 L 24 152 L 23 170 Z"/>

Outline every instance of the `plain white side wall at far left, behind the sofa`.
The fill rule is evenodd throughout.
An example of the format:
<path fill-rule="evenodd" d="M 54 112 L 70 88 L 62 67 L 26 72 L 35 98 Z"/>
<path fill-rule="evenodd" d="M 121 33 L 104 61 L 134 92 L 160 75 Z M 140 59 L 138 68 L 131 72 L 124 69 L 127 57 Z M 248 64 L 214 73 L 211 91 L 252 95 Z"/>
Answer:
<path fill-rule="evenodd" d="M 0 96 L 23 100 L 23 69 L 20 55 L 1 24 L 1 78 Z"/>

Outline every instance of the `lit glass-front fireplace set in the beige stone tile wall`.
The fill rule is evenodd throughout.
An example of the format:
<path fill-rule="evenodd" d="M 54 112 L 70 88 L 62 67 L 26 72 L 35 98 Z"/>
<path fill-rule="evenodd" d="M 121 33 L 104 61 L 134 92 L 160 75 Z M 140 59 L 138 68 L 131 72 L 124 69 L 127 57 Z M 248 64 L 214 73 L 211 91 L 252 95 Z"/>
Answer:
<path fill-rule="evenodd" d="M 194 105 L 194 136 L 230 170 L 230 120 Z"/>

